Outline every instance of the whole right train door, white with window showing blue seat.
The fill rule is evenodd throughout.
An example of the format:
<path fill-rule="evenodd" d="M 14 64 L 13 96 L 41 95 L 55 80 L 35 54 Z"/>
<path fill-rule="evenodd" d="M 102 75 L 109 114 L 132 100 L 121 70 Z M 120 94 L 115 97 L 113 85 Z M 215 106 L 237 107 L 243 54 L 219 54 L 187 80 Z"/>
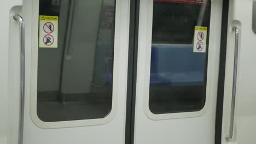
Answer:
<path fill-rule="evenodd" d="M 139 7 L 135 144 L 213 144 L 222 1 Z"/>

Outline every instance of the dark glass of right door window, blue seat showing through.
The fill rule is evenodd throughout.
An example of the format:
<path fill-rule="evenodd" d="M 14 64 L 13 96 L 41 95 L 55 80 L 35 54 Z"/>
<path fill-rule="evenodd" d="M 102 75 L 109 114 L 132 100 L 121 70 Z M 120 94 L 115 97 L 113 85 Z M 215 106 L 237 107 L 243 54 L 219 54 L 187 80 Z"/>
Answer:
<path fill-rule="evenodd" d="M 207 27 L 209 33 L 210 7 L 210 1 L 154 0 L 149 92 L 153 113 L 199 111 L 205 105 L 208 46 L 206 52 L 193 49 L 195 27 Z"/>

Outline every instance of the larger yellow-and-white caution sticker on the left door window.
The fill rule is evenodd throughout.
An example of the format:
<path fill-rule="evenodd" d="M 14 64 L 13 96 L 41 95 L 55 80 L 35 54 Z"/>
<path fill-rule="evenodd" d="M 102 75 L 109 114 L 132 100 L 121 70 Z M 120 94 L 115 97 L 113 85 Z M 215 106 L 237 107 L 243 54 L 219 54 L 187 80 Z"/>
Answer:
<path fill-rule="evenodd" d="M 39 16 L 39 47 L 58 47 L 58 16 Z"/>

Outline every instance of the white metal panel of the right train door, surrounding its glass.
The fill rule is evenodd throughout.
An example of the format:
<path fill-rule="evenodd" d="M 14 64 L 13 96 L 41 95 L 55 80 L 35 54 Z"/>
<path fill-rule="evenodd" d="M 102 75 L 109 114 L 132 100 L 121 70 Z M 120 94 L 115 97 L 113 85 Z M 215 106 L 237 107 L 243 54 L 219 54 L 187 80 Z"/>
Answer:
<path fill-rule="evenodd" d="M 212 1 L 208 57 L 207 100 L 201 112 L 147 116 L 152 37 L 153 0 L 141 0 L 139 13 L 138 70 L 135 113 L 135 144 L 213 144 L 219 69 L 222 1 Z M 146 27 L 148 26 L 148 27 Z M 153 114 L 149 114 L 153 115 Z M 187 118 L 186 118 L 187 117 Z M 174 119 L 170 119 L 174 118 Z"/>

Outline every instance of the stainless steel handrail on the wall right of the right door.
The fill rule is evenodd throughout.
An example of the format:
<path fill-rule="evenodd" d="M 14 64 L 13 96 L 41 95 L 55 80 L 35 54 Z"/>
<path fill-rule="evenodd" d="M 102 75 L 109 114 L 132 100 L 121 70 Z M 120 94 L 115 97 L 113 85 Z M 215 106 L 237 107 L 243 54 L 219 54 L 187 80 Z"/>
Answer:
<path fill-rule="evenodd" d="M 239 43 L 239 31 L 237 27 L 232 28 L 235 32 L 235 57 L 234 57 L 234 75 L 233 75 L 233 88 L 232 88 L 232 101 L 231 101 L 231 114 L 229 135 L 226 136 L 226 140 L 230 141 L 234 134 L 234 119 L 235 119 L 235 103 L 236 103 L 236 80 L 237 80 L 237 63 L 238 63 L 238 43 Z"/>

